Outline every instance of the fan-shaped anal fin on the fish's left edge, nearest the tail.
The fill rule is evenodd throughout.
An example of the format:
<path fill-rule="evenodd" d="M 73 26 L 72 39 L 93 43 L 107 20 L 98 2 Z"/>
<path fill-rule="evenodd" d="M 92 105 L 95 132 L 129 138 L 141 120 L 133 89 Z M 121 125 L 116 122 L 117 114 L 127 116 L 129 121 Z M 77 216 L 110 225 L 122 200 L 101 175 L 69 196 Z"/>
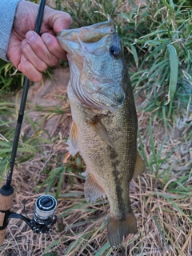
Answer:
<path fill-rule="evenodd" d="M 98 185 L 98 182 L 96 182 L 89 170 L 86 170 L 86 175 L 86 184 L 84 187 L 86 201 L 95 203 L 98 198 L 106 198 L 104 190 Z"/>

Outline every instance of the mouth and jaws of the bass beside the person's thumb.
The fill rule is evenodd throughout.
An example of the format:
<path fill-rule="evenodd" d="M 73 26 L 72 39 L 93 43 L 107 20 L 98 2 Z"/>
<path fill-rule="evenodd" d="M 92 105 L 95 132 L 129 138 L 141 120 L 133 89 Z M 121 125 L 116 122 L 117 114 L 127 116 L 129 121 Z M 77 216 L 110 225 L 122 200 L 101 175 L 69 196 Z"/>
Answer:
<path fill-rule="evenodd" d="M 58 32 L 56 37 L 62 48 L 66 50 L 69 62 L 75 62 L 81 72 L 85 55 L 88 52 L 98 55 L 104 54 L 106 37 L 114 32 L 113 23 L 106 21 L 77 29 L 62 30 Z"/>

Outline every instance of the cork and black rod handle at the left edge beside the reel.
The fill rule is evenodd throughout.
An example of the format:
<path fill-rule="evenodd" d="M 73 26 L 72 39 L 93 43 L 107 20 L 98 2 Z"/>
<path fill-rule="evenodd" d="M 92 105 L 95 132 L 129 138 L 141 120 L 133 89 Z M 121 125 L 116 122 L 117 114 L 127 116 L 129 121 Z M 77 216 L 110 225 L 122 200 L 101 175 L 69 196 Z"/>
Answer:
<path fill-rule="evenodd" d="M 10 189 L 6 189 L 6 185 L 2 186 L 0 190 L 0 246 L 6 236 L 6 229 L 8 225 L 8 218 L 10 214 L 10 208 L 12 207 L 14 200 L 14 188 L 10 186 Z"/>

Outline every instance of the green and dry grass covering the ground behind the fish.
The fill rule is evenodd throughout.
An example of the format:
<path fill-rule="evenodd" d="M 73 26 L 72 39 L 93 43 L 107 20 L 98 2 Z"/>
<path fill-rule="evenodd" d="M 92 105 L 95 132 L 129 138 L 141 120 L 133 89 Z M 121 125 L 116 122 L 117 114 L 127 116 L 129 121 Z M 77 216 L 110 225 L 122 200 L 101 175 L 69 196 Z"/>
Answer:
<path fill-rule="evenodd" d="M 126 236 L 122 247 L 111 248 L 106 237 L 107 200 L 99 199 L 95 205 L 86 202 L 81 175 L 84 162 L 66 150 L 71 117 L 65 92 L 55 95 L 58 106 L 27 104 L 13 177 L 13 210 L 23 214 L 23 204 L 31 198 L 26 210 L 32 218 L 34 195 L 52 194 L 58 199 L 57 225 L 49 234 L 39 235 L 25 223 L 10 220 L 2 256 L 191 254 L 191 3 L 112 3 L 68 0 L 50 1 L 50 6 L 67 10 L 74 27 L 110 16 L 122 39 L 138 106 L 138 150 L 146 162 L 146 173 L 130 186 L 138 233 Z M 1 62 L 0 66 L 0 182 L 4 182 L 19 98 L 5 100 L 4 95 L 12 94 L 14 84 L 21 88 L 23 78 L 10 63 Z M 51 77 L 53 83 L 58 82 L 53 73 Z M 31 116 L 34 112 L 38 118 Z M 46 123 L 55 117 L 50 132 Z"/>

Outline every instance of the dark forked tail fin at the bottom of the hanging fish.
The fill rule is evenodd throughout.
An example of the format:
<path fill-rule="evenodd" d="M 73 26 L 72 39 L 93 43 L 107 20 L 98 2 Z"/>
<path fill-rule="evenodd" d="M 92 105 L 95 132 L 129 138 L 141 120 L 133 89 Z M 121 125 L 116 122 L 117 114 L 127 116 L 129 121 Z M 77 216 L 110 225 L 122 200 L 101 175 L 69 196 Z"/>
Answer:
<path fill-rule="evenodd" d="M 109 217 L 107 234 L 110 242 L 110 246 L 118 247 L 122 244 L 123 236 L 130 233 L 137 232 L 137 223 L 134 217 L 134 212 L 131 211 L 126 215 L 125 220 L 118 220 L 113 217 Z"/>

